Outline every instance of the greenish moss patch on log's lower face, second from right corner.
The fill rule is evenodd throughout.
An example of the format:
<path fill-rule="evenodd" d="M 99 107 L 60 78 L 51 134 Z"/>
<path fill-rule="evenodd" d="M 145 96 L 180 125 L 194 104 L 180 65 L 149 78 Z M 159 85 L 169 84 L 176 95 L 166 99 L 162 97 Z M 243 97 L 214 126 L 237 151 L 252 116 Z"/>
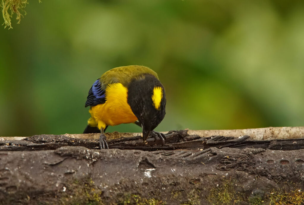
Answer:
<path fill-rule="evenodd" d="M 230 204 L 230 202 L 235 198 L 235 190 L 227 179 L 223 180 L 221 186 L 212 188 L 207 200 L 211 204 Z"/>

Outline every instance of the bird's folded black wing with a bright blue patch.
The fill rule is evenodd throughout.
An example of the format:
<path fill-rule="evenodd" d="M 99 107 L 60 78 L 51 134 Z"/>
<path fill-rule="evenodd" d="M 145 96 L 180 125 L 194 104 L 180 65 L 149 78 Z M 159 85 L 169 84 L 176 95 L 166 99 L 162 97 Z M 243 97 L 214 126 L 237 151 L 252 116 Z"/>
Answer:
<path fill-rule="evenodd" d="M 89 90 L 85 107 L 95 106 L 103 103 L 105 103 L 105 90 L 102 90 L 100 80 L 97 79 Z"/>

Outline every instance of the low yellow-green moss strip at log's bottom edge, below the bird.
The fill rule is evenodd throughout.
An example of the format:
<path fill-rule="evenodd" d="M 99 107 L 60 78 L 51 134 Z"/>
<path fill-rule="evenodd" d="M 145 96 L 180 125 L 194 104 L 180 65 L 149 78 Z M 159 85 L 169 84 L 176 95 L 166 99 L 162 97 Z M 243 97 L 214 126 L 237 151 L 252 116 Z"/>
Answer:
<path fill-rule="evenodd" d="M 142 198 L 136 194 L 125 194 L 123 197 L 118 199 L 117 204 L 119 205 L 127 205 L 127 204 L 138 204 L 138 205 L 162 205 L 166 204 L 161 200 L 157 200 L 155 198 Z"/>

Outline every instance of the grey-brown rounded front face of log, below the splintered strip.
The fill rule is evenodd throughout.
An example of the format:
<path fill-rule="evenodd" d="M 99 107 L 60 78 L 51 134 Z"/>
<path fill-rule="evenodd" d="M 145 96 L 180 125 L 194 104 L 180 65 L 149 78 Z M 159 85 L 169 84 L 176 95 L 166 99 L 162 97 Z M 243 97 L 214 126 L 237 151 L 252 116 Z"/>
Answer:
<path fill-rule="evenodd" d="M 2 151 L 0 204 L 269 204 L 302 193 L 303 167 L 302 150 Z"/>

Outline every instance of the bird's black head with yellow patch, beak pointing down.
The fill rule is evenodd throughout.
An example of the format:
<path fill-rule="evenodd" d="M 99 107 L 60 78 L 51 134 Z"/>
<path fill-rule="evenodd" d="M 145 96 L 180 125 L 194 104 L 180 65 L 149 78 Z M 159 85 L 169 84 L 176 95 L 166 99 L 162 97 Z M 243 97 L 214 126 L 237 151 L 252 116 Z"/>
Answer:
<path fill-rule="evenodd" d="M 151 74 L 134 78 L 128 87 L 128 104 L 143 128 L 143 141 L 164 119 L 166 94 L 161 82 Z"/>

